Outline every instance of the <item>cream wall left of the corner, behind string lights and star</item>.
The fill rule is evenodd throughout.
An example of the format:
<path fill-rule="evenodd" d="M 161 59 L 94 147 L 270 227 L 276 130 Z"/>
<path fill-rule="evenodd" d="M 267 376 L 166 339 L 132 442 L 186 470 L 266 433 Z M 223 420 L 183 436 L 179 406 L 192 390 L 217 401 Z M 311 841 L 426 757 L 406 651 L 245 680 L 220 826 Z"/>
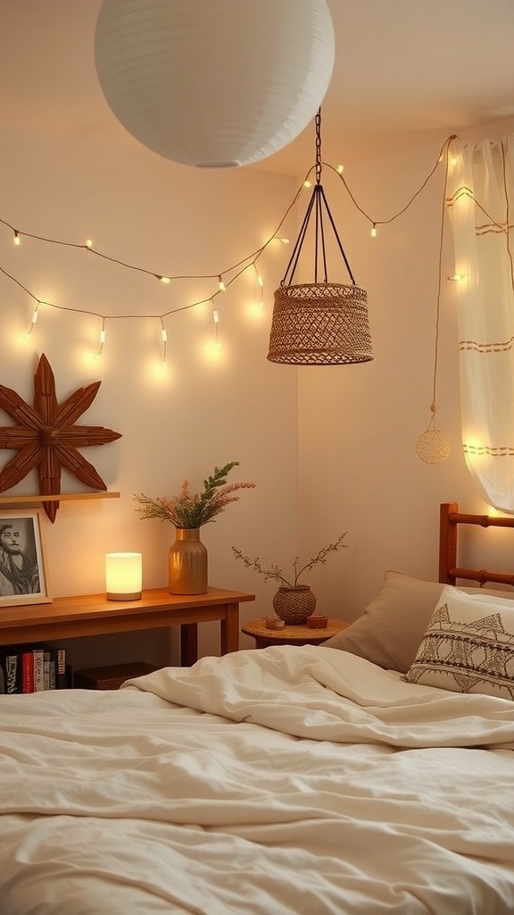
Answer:
<path fill-rule="evenodd" d="M 20 232 L 82 244 L 157 274 L 218 274 L 260 248 L 276 231 L 296 192 L 296 182 L 256 170 L 196 172 L 135 143 L 123 150 L 94 141 L 27 134 L 0 137 L 0 218 Z M 294 216 L 283 234 L 294 238 Z M 296 371 L 266 360 L 273 289 L 288 249 L 273 242 L 259 261 L 264 308 L 255 305 L 253 270 L 216 298 L 220 350 L 211 306 L 166 318 L 168 357 L 162 371 L 160 315 L 212 295 L 217 279 L 162 285 L 94 254 L 23 238 L 0 225 L 0 265 L 35 296 L 71 312 L 41 307 L 27 338 L 34 302 L 0 274 L 0 382 L 29 402 L 37 360 L 45 353 L 59 400 L 80 386 L 102 385 L 81 422 L 105 425 L 122 438 L 83 448 L 109 490 L 120 499 L 65 501 L 54 524 L 46 523 L 50 586 L 55 596 L 104 590 L 104 554 L 141 551 L 144 587 L 166 585 L 172 525 L 141 521 L 133 494 L 174 494 L 184 478 L 192 490 L 215 465 L 239 460 L 230 482 L 253 481 L 217 522 L 202 529 L 209 548 L 209 583 L 255 592 L 241 606 L 242 619 L 262 615 L 273 591 L 239 564 L 230 546 L 283 561 L 296 550 Z M 80 309 L 116 318 L 107 321 L 102 357 L 101 321 Z M 12 420 L 0 413 L 1 425 Z M 4 467 L 13 452 L 0 453 Z M 84 490 L 69 475 L 62 491 Z M 35 472 L 9 495 L 35 493 Z M 86 490 L 87 491 L 87 490 Z M 1 613 L 1 609 L 0 609 Z M 172 633 L 177 641 L 177 631 Z M 215 624 L 200 627 L 200 650 L 218 651 Z M 132 639 L 132 640 L 131 640 Z M 162 633 L 70 644 L 77 663 L 166 661 Z M 176 656 L 172 652 L 173 657 Z M 130 656 L 127 656 L 130 655 Z M 142 657 L 143 655 L 143 657 Z"/>

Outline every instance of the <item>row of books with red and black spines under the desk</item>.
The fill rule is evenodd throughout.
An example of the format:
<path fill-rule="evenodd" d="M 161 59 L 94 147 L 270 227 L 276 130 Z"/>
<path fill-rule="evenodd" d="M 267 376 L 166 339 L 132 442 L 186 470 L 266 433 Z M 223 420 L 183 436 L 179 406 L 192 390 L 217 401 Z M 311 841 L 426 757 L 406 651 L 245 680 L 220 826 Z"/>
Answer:
<path fill-rule="evenodd" d="M 0 693 L 38 693 L 69 685 L 64 648 L 42 642 L 0 646 Z"/>

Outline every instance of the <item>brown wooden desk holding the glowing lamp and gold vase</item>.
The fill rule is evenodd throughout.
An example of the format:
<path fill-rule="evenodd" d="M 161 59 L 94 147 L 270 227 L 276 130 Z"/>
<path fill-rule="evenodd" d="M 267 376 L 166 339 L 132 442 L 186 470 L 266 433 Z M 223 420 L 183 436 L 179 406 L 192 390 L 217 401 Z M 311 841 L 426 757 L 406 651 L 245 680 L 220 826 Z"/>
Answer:
<path fill-rule="evenodd" d="M 55 597 L 48 604 L 0 608 L 0 645 L 76 639 L 111 632 L 180 626 L 180 662 L 198 659 L 198 623 L 220 620 L 220 651 L 239 649 L 239 605 L 254 594 L 209 587 L 207 594 L 144 591 L 139 600 L 107 600 L 104 594 Z"/>

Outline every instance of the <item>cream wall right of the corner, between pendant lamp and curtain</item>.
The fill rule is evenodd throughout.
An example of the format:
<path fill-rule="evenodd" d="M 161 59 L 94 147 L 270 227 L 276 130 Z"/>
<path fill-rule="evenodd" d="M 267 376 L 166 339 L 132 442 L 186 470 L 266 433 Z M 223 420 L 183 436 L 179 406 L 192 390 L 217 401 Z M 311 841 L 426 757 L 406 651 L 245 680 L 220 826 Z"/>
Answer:
<path fill-rule="evenodd" d="M 497 124 L 461 138 L 477 142 L 507 135 L 512 127 Z M 444 137 L 440 145 L 348 167 L 345 178 L 359 206 L 373 221 L 398 213 L 421 188 L 443 143 Z M 348 549 L 318 566 L 310 582 L 320 608 L 354 619 L 386 569 L 436 580 L 440 502 L 457 501 L 472 512 L 485 513 L 488 506 L 472 485 L 460 444 L 456 295 L 446 278 L 455 266 L 447 221 L 436 425 L 452 450 L 438 465 L 424 463 L 415 451 L 431 419 L 444 167 L 400 218 L 378 227 L 375 239 L 339 180 L 326 175 L 324 183 L 352 272 L 368 290 L 375 358 L 299 371 L 299 517 L 307 557 L 348 531 Z M 348 282 L 344 267 L 329 278 Z M 490 564 L 481 567 L 509 571 L 509 532 L 488 536 Z"/>

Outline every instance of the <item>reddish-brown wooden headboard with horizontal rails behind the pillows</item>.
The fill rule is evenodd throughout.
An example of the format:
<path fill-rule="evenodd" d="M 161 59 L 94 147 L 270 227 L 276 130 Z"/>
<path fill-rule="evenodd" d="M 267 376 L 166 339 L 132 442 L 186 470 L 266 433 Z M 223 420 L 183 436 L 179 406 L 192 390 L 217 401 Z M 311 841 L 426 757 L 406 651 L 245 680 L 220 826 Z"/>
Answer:
<path fill-rule="evenodd" d="M 514 575 L 489 572 L 487 569 L 466 569 L 457 565 L 457 541 L 459 524 L 477 524 L 480 527 L 514 527 L 514 518 L 504 515 L 463 514 L 456 502 L 442 502 L 439 526 L 439 581 L 455 585 L 457 578 L 477 581 L 480 585 L 495 582 L 498 585 L 514 585 Z"/>

